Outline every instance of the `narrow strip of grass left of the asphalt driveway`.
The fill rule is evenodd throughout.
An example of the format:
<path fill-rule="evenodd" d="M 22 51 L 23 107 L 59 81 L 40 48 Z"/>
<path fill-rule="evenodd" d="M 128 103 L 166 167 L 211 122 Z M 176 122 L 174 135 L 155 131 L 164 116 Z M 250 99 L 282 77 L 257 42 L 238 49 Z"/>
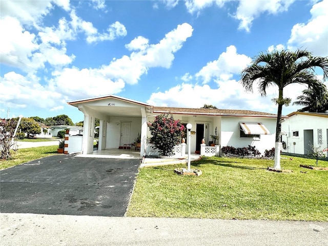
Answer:
<path fill-rule="evenodd" d="M 44 146 L 28 149 L 18 149 L 10 160 L 0 160 L 0 170 L 10 168 L 27 161 L 36 160 L 57 154 L 58 146 Z"/>

